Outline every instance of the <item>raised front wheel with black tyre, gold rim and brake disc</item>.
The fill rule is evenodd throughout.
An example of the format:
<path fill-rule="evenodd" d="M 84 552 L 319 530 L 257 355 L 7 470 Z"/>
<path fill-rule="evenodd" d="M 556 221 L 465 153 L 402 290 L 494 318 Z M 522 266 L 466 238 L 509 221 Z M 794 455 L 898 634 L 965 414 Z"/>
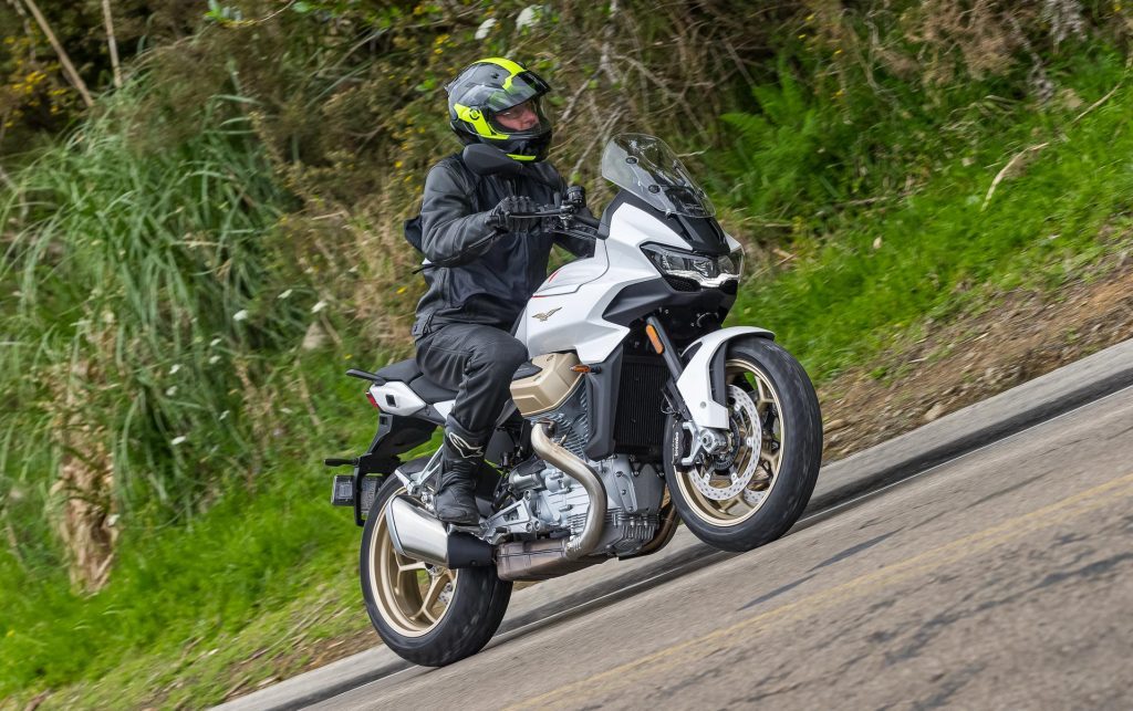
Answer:
<path fill-rule="evenodd" d="M 802 515 L 818 479 L 823 419 L 807 371 L 774 341 L 741 339 L 724 348 L 727 446 L 682 465 L 692 437 L 671 414 L 665 474 L 697 538 L 744 551 L 780 538 Z"/>

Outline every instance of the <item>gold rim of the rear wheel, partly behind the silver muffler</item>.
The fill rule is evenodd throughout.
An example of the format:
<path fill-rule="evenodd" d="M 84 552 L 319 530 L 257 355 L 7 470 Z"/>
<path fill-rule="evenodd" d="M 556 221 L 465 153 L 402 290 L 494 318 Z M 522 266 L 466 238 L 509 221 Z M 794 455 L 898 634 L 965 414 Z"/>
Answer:
<path fill-rule="evenodd" d="M 404 494 L 399 489 L 386 499 Z M 369 589 L 382 618 L 399 634 L 419 637 L 444 619 L 457 593 L 459 571 L 450 571 L 398 552 L 385 522 L 385 507 L 373 530 L 369 547 Z"/>

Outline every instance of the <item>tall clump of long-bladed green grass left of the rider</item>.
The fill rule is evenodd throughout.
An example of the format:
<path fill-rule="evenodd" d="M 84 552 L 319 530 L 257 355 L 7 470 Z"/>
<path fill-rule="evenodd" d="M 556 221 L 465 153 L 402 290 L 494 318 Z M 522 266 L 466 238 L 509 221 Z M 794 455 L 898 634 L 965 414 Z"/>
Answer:
<path fill-rule="evenodd" d="M 191 512 L 257 449 L 245 380 L 263 382 L 258 353 L 306 326 L 309 290 L 270 292 L 266 241 L 293 204 L 254 140 L 252 106 L 215 96 L 199 130 L 169 145 L 142 122 L 140 91 L 22 171 L 0 205 L 9 521 L 28 519 L 12 516 L 18 503 L 43 504 L 61 456 L 96 457 L 95 443 L 118 511 Z"/>

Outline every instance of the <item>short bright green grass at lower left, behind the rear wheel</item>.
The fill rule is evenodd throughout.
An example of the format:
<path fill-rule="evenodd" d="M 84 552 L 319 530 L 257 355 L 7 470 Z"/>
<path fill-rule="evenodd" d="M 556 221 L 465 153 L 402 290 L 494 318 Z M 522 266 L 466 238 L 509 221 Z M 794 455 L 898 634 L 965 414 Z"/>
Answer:
<path fill-rule="evenodd" d="M 74 591 L 61 567 L 0 554 L 0 694 L 33 679 L 59 687 L 139 657 L 176 657 L 189 641 L 231 639 L 322 582 L 350 579 L 341 573 L 356 567 L 358 533 L 344 509 L 329 505 L 329 470 L 318 457 L 365 443 L 374 423 L 339 358 L 304 365 L 335 432 L 325 451 L 275 439 L 252 489 L 231 488 L 185 526 L 136 524 L 99 594 Z"/>

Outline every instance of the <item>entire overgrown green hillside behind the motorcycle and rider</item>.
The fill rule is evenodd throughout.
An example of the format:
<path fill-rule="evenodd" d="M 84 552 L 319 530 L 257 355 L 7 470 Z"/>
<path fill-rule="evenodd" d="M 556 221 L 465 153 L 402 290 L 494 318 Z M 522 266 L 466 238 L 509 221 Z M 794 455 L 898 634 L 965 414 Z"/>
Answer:
<path fill-rule="evenodd" d="M 108 88 L 101 3 L 76 7 L 51 19 Z M 90 110 L 0 11 L 46 72 L 26 92 L 33 59 L 3 63 L 37 147 L 0 143 L 0 696 L 201 705 L 366 626 L 317 461 L 372 434 L 341 371 L 408 352 L 399 221 L 479 55 L 548 76 L 554 160 L 595 202 L 612 132 L 689 155 L 749 246 L 732 320 L 820 382 L 1130 245 L 1125 11 L 615 7 L 138 0 L 123 32 L 152 49 Z M 77 122 L 32 121 L 36 92 Z"/>

